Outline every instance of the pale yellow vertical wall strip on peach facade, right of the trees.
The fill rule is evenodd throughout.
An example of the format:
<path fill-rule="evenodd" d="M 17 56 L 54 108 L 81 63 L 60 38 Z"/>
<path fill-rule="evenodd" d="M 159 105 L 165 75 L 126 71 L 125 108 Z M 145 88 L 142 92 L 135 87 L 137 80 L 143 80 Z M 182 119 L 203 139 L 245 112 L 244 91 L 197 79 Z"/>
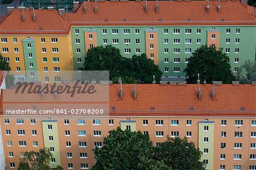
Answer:
<path fill-rule="evenodd" d="M 209 130 L 204 131 L 204 126 L 208 126 Z M 198 146 L 201 152 L 204 152 L 204 148 L 208 148 L 208 154 L 203 154 L 201 160 L 208 159 L 208 165 L 206 169 L 213 169 L 213 143 L 214 143 L 214 122 L 199 122 L 198 123 Z M 205 143 L 204 138 L 208 137 L 209 142 Z"/>

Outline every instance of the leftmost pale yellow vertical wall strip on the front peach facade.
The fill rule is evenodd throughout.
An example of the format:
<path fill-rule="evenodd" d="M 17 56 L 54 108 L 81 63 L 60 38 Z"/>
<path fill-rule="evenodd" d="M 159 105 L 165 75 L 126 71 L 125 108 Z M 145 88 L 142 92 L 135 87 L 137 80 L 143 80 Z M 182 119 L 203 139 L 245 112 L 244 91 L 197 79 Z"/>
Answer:
<path fill-rule="evenodd" d="M 48 130 L 48 125 L 52 125 L 52 130 Z M 60 147 L 59 147 L 59 136 L 58 136 L 58 128 L 57 121 L 52 120 L 42 120 L 43 127 L 43 138 L 44 138 L 44 147 L 50 148 L 54 147 L 53 157 L 55 157 L 55 163 L 51 163 L 49 161 L 49 166 L 51 168 L 57 167 L 60 165 Z M 53 141 L 49 141 L 49 136 L 53 136 Z"/>

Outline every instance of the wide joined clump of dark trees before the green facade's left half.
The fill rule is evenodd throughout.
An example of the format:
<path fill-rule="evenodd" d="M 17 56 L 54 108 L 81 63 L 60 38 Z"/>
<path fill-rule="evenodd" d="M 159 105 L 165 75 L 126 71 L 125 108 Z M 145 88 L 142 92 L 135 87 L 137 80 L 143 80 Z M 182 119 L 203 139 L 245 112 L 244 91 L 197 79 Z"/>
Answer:
<path fill-rule="evenodd" d="M 89 49 L 85 56 L 85 71 L 109 71 L 109 78 L 117 83 L 119 77 L 124 82 L 151 83 L 153 75 L 156 82 L 160 81 L 162 72 L 154 61 L 147 59 L 145 54 L 134 55 L 131 59 L 122 57 L 119 49 L 106 45 Z"/>

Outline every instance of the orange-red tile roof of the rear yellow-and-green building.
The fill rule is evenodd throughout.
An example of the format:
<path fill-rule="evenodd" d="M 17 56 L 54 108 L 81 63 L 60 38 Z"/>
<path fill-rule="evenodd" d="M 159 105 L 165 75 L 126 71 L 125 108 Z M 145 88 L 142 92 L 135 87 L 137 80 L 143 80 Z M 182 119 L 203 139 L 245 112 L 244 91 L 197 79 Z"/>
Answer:
<path fill-rule="evenodd" d="M 57 10 L 35 10 L 36 22 L 32 22 L 32 11 L 25 10 L 26 22 L 22 22 L 22 11 L 14 10 L 7 18 L 3 17 L 0 34 L 67 34 L 71 26 L 256 25 L 255 8 L 245 7 L 240 1 L 222 1 L 221 13 L 217 12 L 218 1 L 209 1 L 209 13 L 206 1 L 158 1 L 158 4 L 159 13 L 155 13 L 156 1 L 148 1 L 145 13 L 144 1 L 97 2 L 95 14 L 94 2 L 86 2 L 86 14 L 82 3 L 76 13 L 65 14 L 65 19 Z"/>

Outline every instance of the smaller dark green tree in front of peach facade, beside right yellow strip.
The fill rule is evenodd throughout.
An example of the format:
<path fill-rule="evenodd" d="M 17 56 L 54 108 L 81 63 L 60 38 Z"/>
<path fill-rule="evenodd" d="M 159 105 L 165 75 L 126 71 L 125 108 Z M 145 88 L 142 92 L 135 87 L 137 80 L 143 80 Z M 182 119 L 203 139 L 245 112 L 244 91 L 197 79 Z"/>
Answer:
<path fill-rule="evenodd" d="M 195 143 L 187 138 L 170 138 L 167 136 L 163 146 L 155 150 L 155 158 L 163 160 L 172 169 L 204 169 L 201 159 L 202 152 L 195 147 Z"/>

